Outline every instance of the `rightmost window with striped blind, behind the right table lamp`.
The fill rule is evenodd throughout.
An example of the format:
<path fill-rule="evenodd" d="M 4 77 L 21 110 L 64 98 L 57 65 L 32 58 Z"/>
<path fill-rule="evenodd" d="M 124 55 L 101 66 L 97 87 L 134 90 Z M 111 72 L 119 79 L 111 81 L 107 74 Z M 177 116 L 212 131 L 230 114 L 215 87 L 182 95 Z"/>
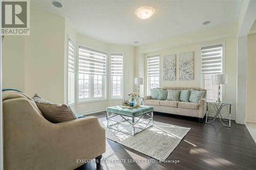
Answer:
<path fill-rule="evenodd" d="M 218 85 L 212 85 L 211 76 L 214 74 L 222 74 L 222 73 L 223 73 L 223 44 L 201 47 L 202 87 L 207 90 L 207 93 L 206 93 L 207 99 L 217 100 Z"/>

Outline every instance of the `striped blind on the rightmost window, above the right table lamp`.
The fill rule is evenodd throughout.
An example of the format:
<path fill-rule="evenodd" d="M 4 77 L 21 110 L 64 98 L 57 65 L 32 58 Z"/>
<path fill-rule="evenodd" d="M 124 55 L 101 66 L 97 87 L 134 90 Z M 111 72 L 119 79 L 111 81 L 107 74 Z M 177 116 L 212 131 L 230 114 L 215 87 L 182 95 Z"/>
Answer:
<path fill-rule="evenodd" d="M 222 73 L 222 44 L 201 48 L 201 74 Z"/>

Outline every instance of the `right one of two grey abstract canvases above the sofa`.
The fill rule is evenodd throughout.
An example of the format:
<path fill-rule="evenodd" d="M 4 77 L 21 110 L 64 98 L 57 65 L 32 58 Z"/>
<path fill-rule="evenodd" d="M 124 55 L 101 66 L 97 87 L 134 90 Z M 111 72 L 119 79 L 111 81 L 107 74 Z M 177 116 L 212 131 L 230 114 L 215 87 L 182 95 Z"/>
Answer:
<path fill-rule="evenodd" d="M 194 52 L 179 54 L 179 80 L 194 80 Z"/>

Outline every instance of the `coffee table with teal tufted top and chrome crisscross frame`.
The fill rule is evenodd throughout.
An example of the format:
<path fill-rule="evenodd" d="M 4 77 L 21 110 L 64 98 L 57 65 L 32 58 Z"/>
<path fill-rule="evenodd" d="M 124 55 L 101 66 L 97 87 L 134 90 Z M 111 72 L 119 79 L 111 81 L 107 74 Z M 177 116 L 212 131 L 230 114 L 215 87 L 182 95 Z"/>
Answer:
<path fill-rule="evenodd" d="M 121 119 L 113 119 L 116 116 L 119 116 Z M 108 128 L 134 136 L 153 126 L 154 107 L 140 106 L 134 109 L 121 108 L 120 106 L 107 107 L 106 120 Z M 127 132 L 118 128 L 118 125 L 122 123 L 129 123 L 132 127 L 132 132 Z M 144 127 L 141 127 L 141 125 Z M 138 131 L 136 132 L 136 130 Z"/>

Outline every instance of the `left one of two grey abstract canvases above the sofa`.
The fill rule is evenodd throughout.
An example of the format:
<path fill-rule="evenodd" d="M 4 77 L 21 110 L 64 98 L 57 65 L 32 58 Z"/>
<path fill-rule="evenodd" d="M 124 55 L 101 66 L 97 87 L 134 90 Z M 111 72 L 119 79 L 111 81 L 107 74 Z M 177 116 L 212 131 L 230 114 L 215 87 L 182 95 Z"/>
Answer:
<path fill-rule="evenodd" d="M 163 57 L 163 80 L 176 80 L 176 54 Z"/>

